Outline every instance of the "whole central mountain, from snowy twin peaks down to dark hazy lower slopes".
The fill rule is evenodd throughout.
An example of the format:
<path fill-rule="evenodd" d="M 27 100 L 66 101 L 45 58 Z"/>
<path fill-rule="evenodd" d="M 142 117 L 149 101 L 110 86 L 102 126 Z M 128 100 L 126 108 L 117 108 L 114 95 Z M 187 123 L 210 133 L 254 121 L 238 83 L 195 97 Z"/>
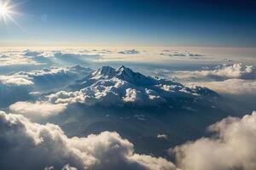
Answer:
<path fill-rule="evenodd" d="M 69 105 L 57 122 L 68 135 L 108 129 L 131 139 L 136 150 L 158 156 L 166 156 L 170 146 L 202 136 L 209 124 L 226 116 L 218 105 L 223 103 L 220 96 L 209 88 L 147 77 L 125 66 L 103 66 L 68 91 L 46 98 Z M 159 133 L 168 139 L 157 138 Z"/>

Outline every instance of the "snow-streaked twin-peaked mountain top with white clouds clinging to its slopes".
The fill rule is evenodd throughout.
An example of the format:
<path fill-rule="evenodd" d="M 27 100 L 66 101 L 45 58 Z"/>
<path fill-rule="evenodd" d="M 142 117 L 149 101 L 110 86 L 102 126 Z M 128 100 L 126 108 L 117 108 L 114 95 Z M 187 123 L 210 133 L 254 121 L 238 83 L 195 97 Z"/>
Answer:
<path fill-rule="evenodd" d="M 49 94 L 53 103 L 83 103 L 85 105 L 164 105 L 170 101 L 215 99 L 218 94 L 208 88 L 186 87 L 175 81 L 146 77 L 125 66 L 113 69 L 103 66 L 69 87 L 70 91 Z M 188 102 L 186 101 L 186 102 Z"/>

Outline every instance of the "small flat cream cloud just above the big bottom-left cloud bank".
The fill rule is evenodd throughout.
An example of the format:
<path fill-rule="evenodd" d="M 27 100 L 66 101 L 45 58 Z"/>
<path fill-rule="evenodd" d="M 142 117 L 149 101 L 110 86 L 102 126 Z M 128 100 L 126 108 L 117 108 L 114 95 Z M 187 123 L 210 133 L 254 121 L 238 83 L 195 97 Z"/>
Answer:
<path fill-rule="evenodd" d="M 51 104 L 48 102 L 26 102 L 20 101 L 9 106 L 10 111 L 24 115 L 29 118 L 41 118 L 55 116 L 66 109 L 66 105 Z"/>

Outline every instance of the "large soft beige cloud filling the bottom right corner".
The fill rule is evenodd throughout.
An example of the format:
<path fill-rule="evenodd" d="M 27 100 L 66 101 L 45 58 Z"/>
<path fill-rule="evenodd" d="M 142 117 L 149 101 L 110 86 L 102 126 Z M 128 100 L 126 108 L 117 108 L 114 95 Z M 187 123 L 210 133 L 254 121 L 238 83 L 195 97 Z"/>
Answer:
<path fill-rule="evenodd" d="M 175 147 L 177 164 L 185 170 L 256 169 L 256 112 L 228 117 L 209 127 L 212 137 Z"/>

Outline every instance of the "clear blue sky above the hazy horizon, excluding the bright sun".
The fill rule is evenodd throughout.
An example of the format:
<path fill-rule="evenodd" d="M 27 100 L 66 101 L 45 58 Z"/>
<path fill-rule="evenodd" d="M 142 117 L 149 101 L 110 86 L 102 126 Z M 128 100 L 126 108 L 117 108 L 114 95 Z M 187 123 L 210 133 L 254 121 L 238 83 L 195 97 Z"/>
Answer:
<path fill-rule="evenodd" d="M 27 0 L 13 10 L 20 27 L 0 21 L 1 45 L 256 47 L 253 1 Z"/>

